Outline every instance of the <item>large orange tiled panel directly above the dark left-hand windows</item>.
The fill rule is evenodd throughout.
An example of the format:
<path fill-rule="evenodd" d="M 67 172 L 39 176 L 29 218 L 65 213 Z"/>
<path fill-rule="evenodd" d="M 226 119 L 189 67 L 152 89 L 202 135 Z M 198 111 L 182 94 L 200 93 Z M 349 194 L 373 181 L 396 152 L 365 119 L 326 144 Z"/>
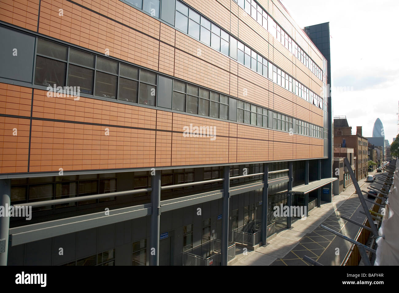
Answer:
<path fill-rule="evenodd" d="M 41 2 L 39 33 L 158 70 L 159 41 L 66 0 L 62 7 L 63 16 L 59 16 L 58 5 Z M 135 11 L 132 17 L 138 22 L 142 16 Z M 151 22 L 158 21 L 151 18 Z M 156 26 L 159 39 L 159 22 Z"/>

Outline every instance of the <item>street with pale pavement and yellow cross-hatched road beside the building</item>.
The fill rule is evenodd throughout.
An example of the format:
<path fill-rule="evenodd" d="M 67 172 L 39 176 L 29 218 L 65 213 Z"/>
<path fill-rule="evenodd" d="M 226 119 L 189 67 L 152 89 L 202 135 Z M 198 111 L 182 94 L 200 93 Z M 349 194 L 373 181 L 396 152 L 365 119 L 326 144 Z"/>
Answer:
<path fill-rule="evenodd" d="M 378 174 L 369 172 L 369 175 Z M 361 189 L 373 183 L 366 183 L 361 179 L 358 183 Z M 364 185 L 364 186 L 363 186 Z M 332 203 L 322 202 L 320 208 L 313 208 L 305 220 L 296 220 L 291 230 L 277 233 L 266 247 L 259 247 L 254 251 L 243 254 L 237 253 L 238 261 L 232 265 L 310 265 L 303 260 L 306 255 L 323 265 L 341 265 L 350 249 L 350 242 L 322 229 L 321 224 L 354 238 L 359 226 L 340 218 L 347 216 L 362 223 L 365 215 L 362 210 L 354 185 L 349 186 L 339 195 L 334 196 Z M 367 196 L 365 196 L 367 197 Z M 367 203 L 367 202 L 366 202 Z M 372 203 L 367 203 L 371 207 Z"/>

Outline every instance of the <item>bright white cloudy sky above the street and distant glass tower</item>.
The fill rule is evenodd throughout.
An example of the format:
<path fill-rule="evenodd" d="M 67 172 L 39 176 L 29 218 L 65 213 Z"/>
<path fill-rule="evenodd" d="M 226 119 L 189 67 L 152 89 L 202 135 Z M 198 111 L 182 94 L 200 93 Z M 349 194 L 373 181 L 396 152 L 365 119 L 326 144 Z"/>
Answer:
<path fill-rule="evenodd" d="M 352 133 L 372 136 L 380 118 L 385 139 L 398 134 L 397 0 L 280 0 L 300 28 L 330 22 L 333 116 Z"/>

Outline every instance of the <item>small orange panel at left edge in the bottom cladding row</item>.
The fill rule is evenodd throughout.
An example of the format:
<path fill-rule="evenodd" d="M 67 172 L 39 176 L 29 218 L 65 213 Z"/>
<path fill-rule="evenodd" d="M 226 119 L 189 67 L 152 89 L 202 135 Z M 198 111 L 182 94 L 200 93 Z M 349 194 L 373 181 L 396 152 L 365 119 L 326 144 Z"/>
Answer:
<path fill-rule="evenodd" d="M 0 173 L 28 172 L 30 119 L 0 116 Z"/>

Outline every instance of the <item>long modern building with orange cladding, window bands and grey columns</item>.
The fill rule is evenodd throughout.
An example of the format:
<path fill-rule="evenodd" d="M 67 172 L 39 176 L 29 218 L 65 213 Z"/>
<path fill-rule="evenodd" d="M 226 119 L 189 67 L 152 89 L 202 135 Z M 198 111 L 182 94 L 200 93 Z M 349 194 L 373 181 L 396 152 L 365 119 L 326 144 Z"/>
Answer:
<path fill-rule="evenodd" d="M 32 207 L 0 264 L 225 265 L 331 201 L 327 61 L 278 0 L 10 0 L 0 35 L 0 205 Z"/>

